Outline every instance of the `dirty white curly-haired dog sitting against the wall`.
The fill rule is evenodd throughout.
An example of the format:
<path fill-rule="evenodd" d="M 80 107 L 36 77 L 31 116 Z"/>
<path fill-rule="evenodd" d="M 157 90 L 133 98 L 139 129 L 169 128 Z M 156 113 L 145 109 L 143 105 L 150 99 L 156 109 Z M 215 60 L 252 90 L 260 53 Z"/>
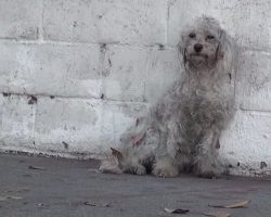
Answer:
<path fill-rule="evenodd" d="M 219 176 L 219 137 L 234 114 L 236 52 L 232 39 L 214 18 L 197 18 L 178 46 L 182 80 L 140 117 L 121 138 L 119 150 L 102 161 L 103 173 L 152 173 L 175 177 L 192 171 Z"/>

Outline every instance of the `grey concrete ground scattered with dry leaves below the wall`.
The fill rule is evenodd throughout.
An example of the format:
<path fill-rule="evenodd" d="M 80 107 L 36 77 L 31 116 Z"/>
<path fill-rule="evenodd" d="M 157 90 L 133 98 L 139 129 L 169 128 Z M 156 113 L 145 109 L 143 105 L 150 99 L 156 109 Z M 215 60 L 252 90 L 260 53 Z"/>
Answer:
<path fill-rule="evenodd" d="M 271 179 L 98 174 L 96 161 L 79 162 L 0 154 L 1 217 L 159 217 L 225 212 L 236 217 L 271 216 Z M 246 208 L 215 208 L 250 200 Z"/>

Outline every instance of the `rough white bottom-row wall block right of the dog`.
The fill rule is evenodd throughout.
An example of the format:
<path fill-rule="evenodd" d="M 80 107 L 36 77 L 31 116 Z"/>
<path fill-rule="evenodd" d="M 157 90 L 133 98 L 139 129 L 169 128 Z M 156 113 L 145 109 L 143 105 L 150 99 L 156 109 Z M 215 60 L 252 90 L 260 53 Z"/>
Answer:
<path fill-rule="evenodd" d="M 221 156 L 235 167 L 233 174 L 260 173 L 260 162 L 271 162 L 270 138 L 270 113 L 238 111 L 220 140 Z"/>

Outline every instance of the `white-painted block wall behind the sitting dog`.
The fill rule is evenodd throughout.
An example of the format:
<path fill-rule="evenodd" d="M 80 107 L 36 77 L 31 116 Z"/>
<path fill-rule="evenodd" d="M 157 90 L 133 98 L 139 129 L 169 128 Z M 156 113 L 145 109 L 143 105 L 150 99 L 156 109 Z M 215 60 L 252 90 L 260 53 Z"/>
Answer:
<path fill-rule="evenodd" d="M 271 170 L 271 0 L 1 0 L 0 150 L 99 156 L 180 78 L 179 33 L 216 17 L 240 46 L 232 174 Z M 264 162 L 264 163 L 263 163 Z"/>

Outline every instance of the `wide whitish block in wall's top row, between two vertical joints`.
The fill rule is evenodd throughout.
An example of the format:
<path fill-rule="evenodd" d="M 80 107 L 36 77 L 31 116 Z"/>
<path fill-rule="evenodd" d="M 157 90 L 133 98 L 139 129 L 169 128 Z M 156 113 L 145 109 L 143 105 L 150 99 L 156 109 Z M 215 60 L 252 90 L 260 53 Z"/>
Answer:
<path fill-rule="evenodd" d="M 47 0 L 44 38 L 77 42 L 164 43 L 165 0 Z"/>

